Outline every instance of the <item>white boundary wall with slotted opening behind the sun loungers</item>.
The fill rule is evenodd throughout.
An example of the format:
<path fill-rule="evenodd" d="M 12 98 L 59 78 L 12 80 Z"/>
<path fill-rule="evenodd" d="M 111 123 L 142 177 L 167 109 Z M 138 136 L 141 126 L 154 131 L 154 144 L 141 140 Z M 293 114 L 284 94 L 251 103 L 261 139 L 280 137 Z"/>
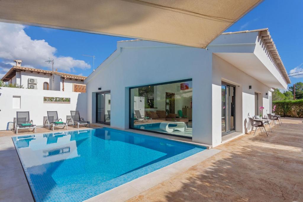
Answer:
<path fill-rule="evenodd" d="M 68 104 L 44 103 L 43 97 L 71 98 L 71 101 Z M 47 116 L 46 111 L 58 111 L 59 118 L 65 122 L 71 110 L 79 110 L 80 116 L 86 119 L 86 99 L 86 93 L 1 87 L 0 130 L 6 130 L 8 122 L 13 122 L 17 111 L 29 111 L 30 119 L 36 125 L 43 125 L 43 117 Z M 20 108 L 16 108 L 16 105 L 17 107 L 20 105 Z"/>

